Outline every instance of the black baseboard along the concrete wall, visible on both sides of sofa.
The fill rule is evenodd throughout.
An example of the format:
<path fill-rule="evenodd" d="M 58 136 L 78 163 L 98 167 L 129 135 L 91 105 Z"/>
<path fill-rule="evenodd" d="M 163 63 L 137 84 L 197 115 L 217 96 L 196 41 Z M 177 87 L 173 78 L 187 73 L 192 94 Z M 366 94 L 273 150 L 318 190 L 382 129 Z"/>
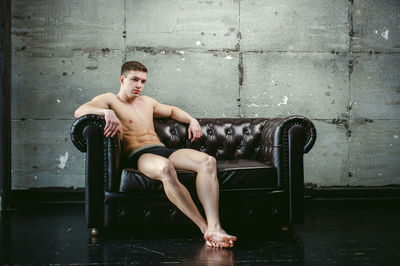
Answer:
<path fill-rule="evenodd" d="M 383 187 L 306 187 L 304 199 L 310 200 L 400 200 L 400 186 Z M 84 203 L 84 188 L 34 188 L 12 190 L 11 205 L 40 203 Z"/>

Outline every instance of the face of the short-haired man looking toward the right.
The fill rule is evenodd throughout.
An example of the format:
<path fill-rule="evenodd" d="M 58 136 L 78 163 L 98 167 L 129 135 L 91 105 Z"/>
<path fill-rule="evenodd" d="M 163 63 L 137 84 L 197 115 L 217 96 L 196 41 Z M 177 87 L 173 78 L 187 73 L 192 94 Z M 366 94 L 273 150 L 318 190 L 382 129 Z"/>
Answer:
<path fill-rule="evenodd" d="M 144 88 L 146 78 L 146 72 L 132 70 L 120 77 L 121 86 L 129 98 L 138 97 Z"/>

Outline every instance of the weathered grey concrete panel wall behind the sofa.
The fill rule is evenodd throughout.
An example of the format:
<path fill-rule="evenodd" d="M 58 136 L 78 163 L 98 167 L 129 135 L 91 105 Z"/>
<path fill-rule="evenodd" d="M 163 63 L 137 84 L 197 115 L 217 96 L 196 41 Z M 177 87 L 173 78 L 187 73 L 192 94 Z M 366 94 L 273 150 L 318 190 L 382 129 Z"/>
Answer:
<path fill-rule="evenodd" d="M 12 187 L 83 187 L 73 111 L 119 88 L 196 117 L 309 117 L 305 182 L 400 184 L 398 0 L 12 1 Z"/>

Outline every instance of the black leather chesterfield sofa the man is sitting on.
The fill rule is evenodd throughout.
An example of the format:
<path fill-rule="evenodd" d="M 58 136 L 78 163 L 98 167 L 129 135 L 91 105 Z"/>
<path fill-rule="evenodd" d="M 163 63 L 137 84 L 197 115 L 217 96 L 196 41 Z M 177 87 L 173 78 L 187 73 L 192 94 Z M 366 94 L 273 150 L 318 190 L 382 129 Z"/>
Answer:
<path fill-rule="evenodd" d="M 303 221 L 303 154 L 316 140 L 313 123 L 302 116 L 286 118 L 198 119 L 203 135 L 188 140 L 187 125 L 155 119 L 160 140 L 172 148 L 193 148 L 217 159 L 222 225 L 262 224 L 277 218 L 290 226 Z M 105 121 L 98 115 L 75 120 L 71 139 L 86 152 L 86 223 L 88 228 L 144 224 L 188 224 L 190 220 L 169 202 L 160 181 L 126 165 L 118 135 L 105 138 Z M 195 173 L 178 170 L 178 178 L 196 195 Z M 92 233 L 95 233 L 92 230 Z"/>

